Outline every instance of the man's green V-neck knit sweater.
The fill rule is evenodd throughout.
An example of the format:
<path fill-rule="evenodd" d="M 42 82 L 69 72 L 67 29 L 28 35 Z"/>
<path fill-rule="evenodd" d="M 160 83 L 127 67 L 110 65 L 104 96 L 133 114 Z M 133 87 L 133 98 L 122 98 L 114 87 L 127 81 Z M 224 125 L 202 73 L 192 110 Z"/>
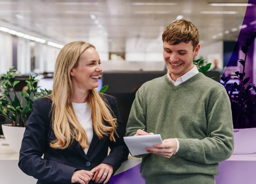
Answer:
<path fill-rule="evenodd" d="M 146 184 L 214 184 L 219 162 L 234 148 L 231 106 L 224 86 L 202 73 L 180 85 L 167 75 L 146 82 L 136 93 L 126 129 L 177 138 L 171 158 L 144 154 L 141 175 Z"/>

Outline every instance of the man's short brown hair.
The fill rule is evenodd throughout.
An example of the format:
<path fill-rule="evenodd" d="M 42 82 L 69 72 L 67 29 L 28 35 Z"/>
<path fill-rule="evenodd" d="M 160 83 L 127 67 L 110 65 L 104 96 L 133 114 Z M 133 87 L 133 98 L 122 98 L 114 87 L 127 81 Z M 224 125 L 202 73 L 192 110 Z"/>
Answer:
<path fill-rule="evenodd" d="M 169 24 L 162 34 L 163 42 L 176 45 L 181 42 L 192 42 L 193 50 L 199 43 L 199 32 L 191 22 L 181 19 Z"/>

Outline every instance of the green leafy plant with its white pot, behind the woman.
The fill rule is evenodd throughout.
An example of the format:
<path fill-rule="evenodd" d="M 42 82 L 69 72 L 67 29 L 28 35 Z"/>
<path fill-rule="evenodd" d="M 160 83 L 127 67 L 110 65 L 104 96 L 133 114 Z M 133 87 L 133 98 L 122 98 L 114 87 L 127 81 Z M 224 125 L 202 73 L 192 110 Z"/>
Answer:
<path fill-rule="evenodd" d="M 33 84 L 38 82 L 35 80 L 35 76 L 29 75 L 29 80 L 27 80 L 28 91 L 19 92 L 21 95 L 21 100 L 19 100 L 17 93 L 14 89 L 14 86 L 19 83 L 19 81 L 12 82 L 12 77 L 15 77 L 19 74 L 12 74 L 17 70 L 14 67 L 11 67 L 6 74 L 2 74 L 4 77 L 3 82 L 0 84 L 2 88 L 5 90 L 5 93 L 0 93 L 2 97 L 0 98 L 0 115 L 9 119 L 11 124 L 3 124 L 2 129 L 4 133 L 4 137 L 6 141 L 9 143 L 10 147 L 13 148 L 14 151 L 19 152 L 21 148 L 21 142 L 23 138 L 23 134 L 26 127 L 26 121 L 31 114 L 32 105 L 34 100 L 43 98 L 44 96 L 50 95 L 52 90 L 41 90 L 40 93 L 36 92 L 36 89 L 40 88 L 34 87 Z M 14 93 L 14 98 L 12 99 L 10 96 L 11 88 Z M 99 91 L 100 93 L 104 93 L 108 89 L 108 85 L 105 85 Z M 34 94 L 33 99 L 31 99 L 31 94 Z M 23 107 L 23 102 L 26 103 L 26 106 Z"/>

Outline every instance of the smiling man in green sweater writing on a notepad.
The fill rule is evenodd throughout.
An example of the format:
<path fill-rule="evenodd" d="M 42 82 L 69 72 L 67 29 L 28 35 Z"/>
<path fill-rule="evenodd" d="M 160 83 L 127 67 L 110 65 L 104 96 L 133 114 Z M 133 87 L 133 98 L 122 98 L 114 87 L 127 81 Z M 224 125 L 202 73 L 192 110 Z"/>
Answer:
<path fill-rule="evenodd" d="M 146 184 L 214 184 L 219 162 L 228 159 L 234 147 L 229 97 L 219 82 L 193 65 L 200 45 L 192 23 L 169 24 L 162 39 L 169 70 L 137 91 L 126 136 L 162 137 L 163 144 L 136 156 L 143 157 Z"/>

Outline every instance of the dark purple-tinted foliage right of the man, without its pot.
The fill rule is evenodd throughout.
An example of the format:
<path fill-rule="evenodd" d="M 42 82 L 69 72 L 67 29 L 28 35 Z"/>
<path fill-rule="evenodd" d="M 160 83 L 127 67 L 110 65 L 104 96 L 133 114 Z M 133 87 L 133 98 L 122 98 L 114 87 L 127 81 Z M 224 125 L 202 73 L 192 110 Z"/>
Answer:
<path fill-rule="evenodd" d="M 246 77 L 244 79 L 247 52 L 255 37 L 256 31 L 250 34 L 250 37 L 246 39 L 245 46 L 241 47 L 241 50 L 245 54 L 244 60 L 239 59 L 239 62 L 243 66 L 243 72 L 240 73 L 237 71 L 234 75 L 229 75 L 225 78 L 221 77 L 231 102 L 233 126 L 235 129 L 256 128 L 256 95 L 251 95 L 250 93 L 251 88 L 256 93 L 256 86 L 248 83 L 250 77 Z M 239 85 L 237 82 L 234 82 L 234 84 L 227 84 L 230 76 L 235 76 L 234 79 L 238 79 L 240 81 Z M 230 93 L 228 89 L 231 89 Z M 237 93 L 233 94 L 234 91 L 237 91 Z"/>

